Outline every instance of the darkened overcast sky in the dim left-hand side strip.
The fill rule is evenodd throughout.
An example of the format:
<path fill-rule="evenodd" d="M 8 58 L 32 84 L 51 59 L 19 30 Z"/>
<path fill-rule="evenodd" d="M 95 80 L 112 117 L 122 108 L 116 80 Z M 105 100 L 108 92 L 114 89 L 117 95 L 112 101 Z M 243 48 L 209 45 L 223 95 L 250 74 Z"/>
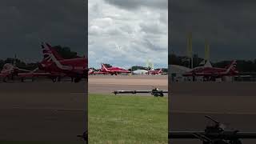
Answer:
<path fill-rule="evenodd" d="M 0 59 L 42 59 L 41 42 L 86 50 L 86 1 L 1 0 Z"/>

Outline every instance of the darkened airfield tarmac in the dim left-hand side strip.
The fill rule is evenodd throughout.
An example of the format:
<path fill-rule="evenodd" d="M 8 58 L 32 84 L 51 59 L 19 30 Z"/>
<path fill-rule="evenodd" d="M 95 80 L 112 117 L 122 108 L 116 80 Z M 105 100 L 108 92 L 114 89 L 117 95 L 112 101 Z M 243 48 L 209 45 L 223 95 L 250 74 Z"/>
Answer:
<path fill-rule="evenodd" d="M 0 83 L 0 141 L 84 143 L 86 82 Z M 58 142 L 57 142 L 58 143 Z"/>

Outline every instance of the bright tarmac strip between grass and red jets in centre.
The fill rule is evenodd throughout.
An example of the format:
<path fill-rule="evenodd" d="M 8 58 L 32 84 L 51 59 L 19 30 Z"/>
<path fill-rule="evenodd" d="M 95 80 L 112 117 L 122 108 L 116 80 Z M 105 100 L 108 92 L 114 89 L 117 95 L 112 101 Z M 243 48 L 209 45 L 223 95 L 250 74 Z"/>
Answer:
<path fill-rule="evenodd" d="M 92 94 L 111 94 L 114 90 L 168 90 L 167 75 L 90 75 L 88 90 Z M 127 95 L 127 94 L 126 94 Z M 143 94 L 150 96 L 150 94 Z"/>

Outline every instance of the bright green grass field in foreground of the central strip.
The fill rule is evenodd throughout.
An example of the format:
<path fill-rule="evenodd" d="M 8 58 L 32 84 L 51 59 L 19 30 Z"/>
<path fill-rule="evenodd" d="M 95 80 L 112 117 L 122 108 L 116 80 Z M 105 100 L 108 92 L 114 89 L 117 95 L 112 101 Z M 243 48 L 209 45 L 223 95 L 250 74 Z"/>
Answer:
<path fill-rule="evenodd" d="M 167 99 L 89 94 L 89 143 L 167 143 Z"/>

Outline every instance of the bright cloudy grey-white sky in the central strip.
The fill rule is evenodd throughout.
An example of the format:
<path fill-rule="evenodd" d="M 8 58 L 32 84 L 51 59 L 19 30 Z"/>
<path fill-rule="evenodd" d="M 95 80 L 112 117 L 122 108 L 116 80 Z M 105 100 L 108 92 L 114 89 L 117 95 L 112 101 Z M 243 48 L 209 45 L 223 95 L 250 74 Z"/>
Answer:
<path fill-rule="evenodd" d="M 89 66 L 167 67 L 167 0 L 89 0 Z"/>

